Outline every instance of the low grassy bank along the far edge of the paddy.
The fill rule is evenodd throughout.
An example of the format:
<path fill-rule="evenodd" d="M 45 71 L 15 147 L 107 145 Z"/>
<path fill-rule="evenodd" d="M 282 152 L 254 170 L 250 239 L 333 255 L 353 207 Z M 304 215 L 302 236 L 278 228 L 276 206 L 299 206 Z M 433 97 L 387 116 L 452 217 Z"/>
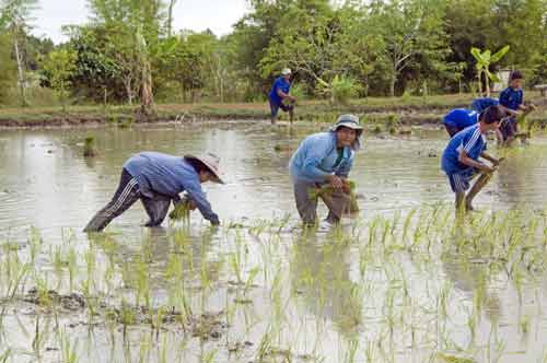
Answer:
<path fill-rule="evenodd" d="M 538 94 L 526 93 L 527 99 Z M 330 121 L 340 113 L 356 113 L 364 116 L 365 121 L 397 121 L 407 125 L 440 121 L 451 108 L 469 107 L 472 94 L 440 95 L 429 97 L 369 97 L 351 101 L 347 105 L 330 105 L 326 101 L 302 101 L 296 108 L 296 120 Z M 1 127 L 60 127 L 123 125 L 143 121 L 137 117 L 137 106 L 86 105 L 61 107 L 0 108 Z M 267 103 L 197 103 L 159 104 L 158 116 L 147 121 L 196 121 L 196 120 L 244 120 L 267 119 Z M 283 116 L 281 116 L 283 117 Z M 531 118 L 547 122 L 544 108 L 532 114 Z"/>

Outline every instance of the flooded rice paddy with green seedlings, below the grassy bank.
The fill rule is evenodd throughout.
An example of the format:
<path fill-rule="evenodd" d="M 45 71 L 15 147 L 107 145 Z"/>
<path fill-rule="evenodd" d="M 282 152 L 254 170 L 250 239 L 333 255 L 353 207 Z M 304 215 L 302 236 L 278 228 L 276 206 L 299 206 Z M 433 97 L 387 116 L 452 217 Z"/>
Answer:
<path fill-rule="evenodd" d="M 456 223 L 445 134 L 368 134 L 360 216 L 303 231 L 287 164 L 321 128 L 0 131 L 0 362 L 547 362 L 547 140 Z M 142 150 L 220 155 L 221 226 L 136 203 L 82 234 Z"/>

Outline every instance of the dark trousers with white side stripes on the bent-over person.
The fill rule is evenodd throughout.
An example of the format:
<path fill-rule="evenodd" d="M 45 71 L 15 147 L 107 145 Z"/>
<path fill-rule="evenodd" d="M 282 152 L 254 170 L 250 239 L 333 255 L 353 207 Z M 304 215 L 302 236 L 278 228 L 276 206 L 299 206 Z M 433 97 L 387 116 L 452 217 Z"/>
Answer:
<path fill-rule="evenodd" d="M 103 231 L 112 220 L 121 215 L 121 213 L 128 210 L 139 199 L 142 201 L 144 210 L 150 216 L 150 221 L 146 225 L 160 225 L 165 219 L 165 215 L 167 215 L 171 198 L 160 194 L 154 194 L 152 198 L 142 196 L 137 179 L 124 168 L 119 178 L 118 189 L 116 189 L 114 197 L 112 197 L 112 200 L 91 219 L 83 231 Z"/>

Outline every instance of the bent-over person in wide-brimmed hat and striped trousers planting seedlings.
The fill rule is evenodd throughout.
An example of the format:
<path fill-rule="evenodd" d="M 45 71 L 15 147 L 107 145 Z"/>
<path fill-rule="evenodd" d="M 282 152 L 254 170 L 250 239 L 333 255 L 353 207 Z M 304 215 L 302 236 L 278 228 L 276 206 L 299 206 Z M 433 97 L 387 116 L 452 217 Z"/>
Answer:
<path fill-rule="evenodd" d="M 146 226 L 158 226 L 165 219 L 171 201 L 174 204 L 182 202 L 178 194 L 183 191 L 203 218 L 217 225 L 219 216 L 201 189 L 201 183 L 206 182 L 223 184 L 219 176 L 219 159 L 213 154 L 179 157 L 159 152 L 138 153 L 125 162 L 114 197 L 83 231 L 103 231 L 139 199 L 150 218 Z"/>

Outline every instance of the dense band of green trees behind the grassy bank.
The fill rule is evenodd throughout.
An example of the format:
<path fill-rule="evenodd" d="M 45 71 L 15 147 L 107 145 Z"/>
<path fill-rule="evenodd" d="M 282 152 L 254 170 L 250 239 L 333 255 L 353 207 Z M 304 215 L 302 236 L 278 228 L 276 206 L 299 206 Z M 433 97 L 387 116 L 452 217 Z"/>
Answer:
<path fill-rule="evenodd" d="M 486 71 L 547 82 L 547 0 L 249 0 L 222 37 L 174 33 L 175 2 L 89 0 L 89 23 L 65 27 L 69 40 L 54 46 L 30 35 L 39 2 L 0 0 L 0 104 L 26 104 L 33 86 L 59 92 L 59 55 L 74 57 L 61 77 L 73 103 L 258 101 L 284 67 L 300 91 L 333 101 L 474 92 L 470 49 L 507 45 Z"/>

